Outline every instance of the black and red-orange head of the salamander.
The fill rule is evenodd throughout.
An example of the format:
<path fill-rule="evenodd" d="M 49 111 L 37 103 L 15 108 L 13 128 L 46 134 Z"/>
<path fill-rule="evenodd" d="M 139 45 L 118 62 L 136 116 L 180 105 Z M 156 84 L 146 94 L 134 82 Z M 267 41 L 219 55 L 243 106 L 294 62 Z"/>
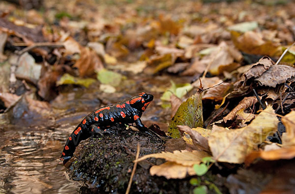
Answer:
<path fill-rule="evenodd" d="M 132 108 L 136 108 L 140 111 L 145 111 L 148 107 L 148 104 L 153 100 L 152 95 L 148 95 L 147 93 L 143 92 L 139 95 L 131 97 L 130 99 L 130 106 Z"/>

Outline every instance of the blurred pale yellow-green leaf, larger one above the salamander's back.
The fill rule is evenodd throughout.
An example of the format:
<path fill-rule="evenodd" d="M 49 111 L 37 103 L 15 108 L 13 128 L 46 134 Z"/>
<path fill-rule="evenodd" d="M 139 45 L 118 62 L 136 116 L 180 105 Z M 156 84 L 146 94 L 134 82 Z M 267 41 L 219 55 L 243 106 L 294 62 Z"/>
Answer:
<path fill-rule="evenodd" d="M 100 71 L 97 72 L 97 79 L 102 84 L 108 84 L 108 85 L 116 87 L 120 85 L 121 81 L 123 79 L 126 79 L 126 77 L 114 71 L 101 69 Z"/>

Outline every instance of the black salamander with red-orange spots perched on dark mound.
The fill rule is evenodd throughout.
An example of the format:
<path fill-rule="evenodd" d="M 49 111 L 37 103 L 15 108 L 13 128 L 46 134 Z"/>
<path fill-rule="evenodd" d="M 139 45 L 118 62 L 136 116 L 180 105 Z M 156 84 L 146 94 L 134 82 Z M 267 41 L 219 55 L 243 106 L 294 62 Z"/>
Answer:
<path fill-rule="evenodd" d="M 108 129 L 115 124 L 135 123 L 139 130 L 148 130 L 140 120 L 140 117 L 152 100 L 152 95 L 143 92 L 118 104 L 104 106 L 91 112 L 67 139 L 60 157 L 63 165 L 72 158 L 76 147 L 82 140 L 89 138 L 94 133 L 100 133 L 102 130 Z"/>

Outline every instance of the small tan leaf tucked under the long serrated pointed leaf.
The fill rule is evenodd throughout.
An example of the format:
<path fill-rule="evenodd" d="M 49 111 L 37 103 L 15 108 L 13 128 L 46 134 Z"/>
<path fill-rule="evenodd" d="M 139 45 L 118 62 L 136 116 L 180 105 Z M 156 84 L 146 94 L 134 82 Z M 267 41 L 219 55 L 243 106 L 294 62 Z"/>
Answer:
<path fill-rule="evenodd" d="M 157 176 L 165 176 L 167 179 L 183 179 L 186 174 L 195 175 L 195 171 L 191 166 L 183 166 L 176 162 L 165 162 L 161 165 L 151 166 L 149 173 Z"/>

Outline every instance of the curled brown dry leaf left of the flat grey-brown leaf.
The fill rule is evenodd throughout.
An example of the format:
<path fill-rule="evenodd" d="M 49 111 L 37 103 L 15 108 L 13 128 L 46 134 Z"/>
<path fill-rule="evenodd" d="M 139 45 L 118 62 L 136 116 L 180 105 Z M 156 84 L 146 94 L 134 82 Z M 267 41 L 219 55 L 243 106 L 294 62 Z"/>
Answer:
<path fill-rule="evenodd" d="M 244 76 L 246 79 L 259 77 L 272 65 L 274 65 L 274 62 L 269 57 L 264 56 L 259 62 L 253 64 L 252 67 L 244 73 Z"/>

